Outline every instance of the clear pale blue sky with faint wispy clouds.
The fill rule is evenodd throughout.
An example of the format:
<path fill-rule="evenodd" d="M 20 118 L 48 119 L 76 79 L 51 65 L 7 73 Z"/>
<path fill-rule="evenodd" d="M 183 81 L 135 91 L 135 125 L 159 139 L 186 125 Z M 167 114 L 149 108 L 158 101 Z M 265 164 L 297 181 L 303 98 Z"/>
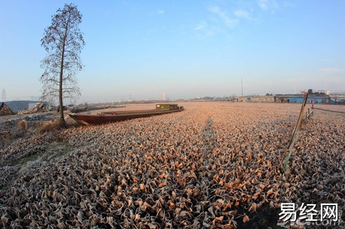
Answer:
<path fill-rule="evenodd" d="M 41 96 L 44 29 L 83 15 L 78 103 L 345 91 L 345 1 L 0 0 L 0 90 Z"/>

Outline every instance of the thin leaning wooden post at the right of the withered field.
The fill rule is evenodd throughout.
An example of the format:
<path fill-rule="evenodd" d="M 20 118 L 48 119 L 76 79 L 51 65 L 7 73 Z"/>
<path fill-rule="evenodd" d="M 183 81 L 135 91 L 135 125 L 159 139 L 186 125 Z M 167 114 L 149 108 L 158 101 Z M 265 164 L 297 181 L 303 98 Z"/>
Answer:
<path fill-rule="evenodd" d="M 308 93 L 304 95 L 304 100 L 302 102 L 302 107 L 301 111 L 299 112 L 299 118 L 296 124 L 295 129 L 293 129 L 293 135 L 291 136 L 290 142 L 288 143 L 288 149 L 286 149 L 284 153 L 284 157 L 282 158 L 282 162 L 280 163 L 281 165 L 284 166 L 284 171 L 286 177 L 288 176 L 288 159 L 290 158 L 290 155 L 293 151 L 293 146 L 295 145 L 295 142 L 297 142 L 299 131 L 301 130 L 302 126 L 302 120 L 303 120 L 303 115 L 304 115 L 304 107 L 306 107 L 306 100 L 308 98 Z"/>

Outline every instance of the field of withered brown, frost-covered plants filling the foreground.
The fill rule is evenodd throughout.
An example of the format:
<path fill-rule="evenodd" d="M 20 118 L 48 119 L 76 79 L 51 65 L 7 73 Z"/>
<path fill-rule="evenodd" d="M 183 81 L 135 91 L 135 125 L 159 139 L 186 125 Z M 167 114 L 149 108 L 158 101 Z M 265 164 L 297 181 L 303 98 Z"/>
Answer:
<path fill-rule="evenodd" d="M 0 227 L 274 228 L 282 202 L 345 210 L 344 114 L 315 111 L 285 177 L 279 164 L 300 104 L 179 105 L 185 111 L 32 133 L 4 146 Z M 28 155 L 37 160 L 19 169 Z"/>

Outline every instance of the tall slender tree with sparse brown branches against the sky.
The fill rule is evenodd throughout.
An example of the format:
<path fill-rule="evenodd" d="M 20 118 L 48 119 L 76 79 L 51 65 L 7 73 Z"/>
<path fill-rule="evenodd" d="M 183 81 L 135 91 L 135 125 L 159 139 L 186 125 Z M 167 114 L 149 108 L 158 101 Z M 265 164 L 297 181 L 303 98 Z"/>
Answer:
<path fill-rule="evenodd" d="M 41 98 L 59 98 L 60 127 L 66 127 L 63 99 L 79 98 L 81 95 L 76 78 L 77 72 L 83 68 L 79 54 L 85 45 L 79 30 L 81 17 L 77 6 L 65 4 L 62 10 L 59 8 L 57 14 L 52 16 L 52 24 L 44 30 L 41 39 L 41 46 L 48 52 L 41 61 L 41 67 L 45 69 L 39 78 L 43 83 Z"/>

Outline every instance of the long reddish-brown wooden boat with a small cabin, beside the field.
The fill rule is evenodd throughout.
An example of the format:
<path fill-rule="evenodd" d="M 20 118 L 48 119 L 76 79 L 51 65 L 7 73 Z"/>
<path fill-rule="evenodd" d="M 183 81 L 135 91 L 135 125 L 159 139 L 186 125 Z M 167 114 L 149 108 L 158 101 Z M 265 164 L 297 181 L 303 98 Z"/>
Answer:
<path fill-rule="evenodd" d="M 157 104 L 156 109 L 136 110 L 136 111 L 106 111 L 97 114 L 90 113 L 69 113 L 68 116 L 73 120 L 85 124 L 105 124 L 108 122 L 120 122 L 133 118 L 144 118 L 158 116 L 165 113 L 183 111 L 184 107 L 176 104 Z"/>

